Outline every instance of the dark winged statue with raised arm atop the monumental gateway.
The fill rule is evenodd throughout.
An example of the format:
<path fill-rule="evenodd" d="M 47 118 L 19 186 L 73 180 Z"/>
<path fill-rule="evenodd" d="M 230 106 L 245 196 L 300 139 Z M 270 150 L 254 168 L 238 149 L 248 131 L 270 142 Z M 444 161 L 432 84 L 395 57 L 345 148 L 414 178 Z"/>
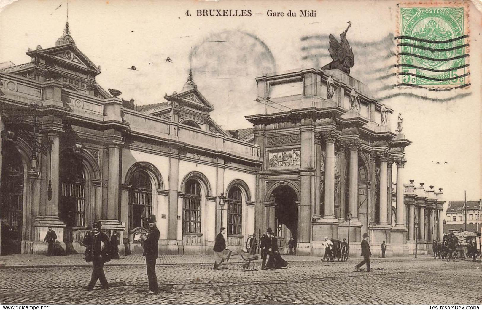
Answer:
<path fill-rule="evenodd" d="M 330 35 L 330 48 L 328 51 L 333 61 L 321 67 L 321 70 L 340 69 L 346 74 L 350 74 L 350 68 L 355 64 L 353 50 L 351 50 L 347 40 L 347 32 L 350 27 L 351 22 L 348 22 L 347 29 L 340 34 L 341 42 L 338 42 L 333 35 Z"/>

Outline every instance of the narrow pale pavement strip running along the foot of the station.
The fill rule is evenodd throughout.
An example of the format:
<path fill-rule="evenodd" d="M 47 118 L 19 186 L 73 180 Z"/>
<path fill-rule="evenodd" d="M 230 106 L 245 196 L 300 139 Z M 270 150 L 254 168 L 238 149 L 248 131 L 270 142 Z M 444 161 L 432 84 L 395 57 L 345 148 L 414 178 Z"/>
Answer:
<path fill-rule="evenodd" d="M 349 263 L 358 263 L 360 262 L 362 258 L 356 257 L 350 259 Z M 427 259 L 433 259 L 432 257 L 421 257 L 418 258 L 418 260 L 427 260 Z M 371 260 L 383 260 L 383 261 L 397 261 L 397 260 L 414 260 L 412 257 L 391 257 L 391 258 L 384 258 L 382 259 L 381 257 L 375 257 L 372 258 Z M 327 264 L 336 264 L 338 261 L 333 261 L 333 262 L 328 262 L 328 261 L 321 261 L 320 258 L 313 258 L 311 260 L 291 260 L 288 261 L 288 263 L 292 262 L 305 262 L 305 261 L 320 261 L 322 263 L 327 263 Z M 223 264 L 241 264 L 242 261 L 228 261 L 224 262 Z M 261 260 L 256 260 L 252 261 L 252 263 L 261 263 Z M 193 265 L 193 264 L 198 264 L 198 265 L 211 265 L 212 262 L 206 262 L 206 261 L 192 261 L 192 262 L 158 262 L 156 265 L 162 265 L 162 266 L 169 266 L 169 265 Z M 113 267 L 119 267 L 119 266 L 145 266 L 146 263 L 112 263 L 112 264 L 105 264 L 105 267 L 113 266 Z M 27 268 L 73 268 L 73 267 L 92 267 L 92 264 L 90 263 L 80 263 L 80 264 L 42 264 L 42 265 L 1 265 L 0 264 L 0 269 L 27 269 Z"/>

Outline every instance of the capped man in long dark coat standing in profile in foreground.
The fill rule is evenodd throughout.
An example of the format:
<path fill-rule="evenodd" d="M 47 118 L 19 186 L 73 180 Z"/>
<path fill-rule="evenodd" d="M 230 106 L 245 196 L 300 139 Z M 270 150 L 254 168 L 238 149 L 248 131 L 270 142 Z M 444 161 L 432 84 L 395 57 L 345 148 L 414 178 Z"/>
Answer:
<path fill-rule="evenodd" d="M 159 257 L 159 229 L 156 226 L 156 216 L 151 215 L 147 219 L 147 224 L 149 225 L 149 231 L 147 236 L 141 235 L 142 247 L 144 248 L 143 256 L 146 257 L 147 266 L 147 278 L 149 280 L 149 291 L 147 294 L 157 294 L 159 289 L 157 286 L 157 275 L 156 275 L 156 260 Z"/>

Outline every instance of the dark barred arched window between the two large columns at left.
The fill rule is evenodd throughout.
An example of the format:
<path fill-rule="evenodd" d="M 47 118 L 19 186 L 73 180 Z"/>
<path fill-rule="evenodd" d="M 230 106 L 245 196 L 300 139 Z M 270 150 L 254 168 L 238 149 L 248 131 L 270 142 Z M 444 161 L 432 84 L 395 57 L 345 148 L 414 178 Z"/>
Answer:
<path fill-rule="evenodd" d="M 67 227 L 85 226 L 85 174 L 82 161 L 65 154 L 60 164 L 60 219 Z"/>

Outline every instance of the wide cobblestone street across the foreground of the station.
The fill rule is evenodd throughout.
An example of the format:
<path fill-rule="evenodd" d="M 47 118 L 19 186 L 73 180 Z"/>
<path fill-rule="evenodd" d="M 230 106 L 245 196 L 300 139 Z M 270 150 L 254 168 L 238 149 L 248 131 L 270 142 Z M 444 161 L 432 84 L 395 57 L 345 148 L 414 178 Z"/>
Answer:
<path fill-rule="evenodd" d="M 204 258 L 203 258 L 204 259 Z M 207 259 L 207 257 L 206 257 Z M 314 258 L 313 258 L 314 259 Z M 136 260 L 139 260 L 136 258 Z M 161 292 L 147 296 L 143 265 L 104 268 L 111 288 L 82 287 L 92 267 L 0 269 L 2 304 L 480 304 L 482 268 L 470 261 L 372 260 L 372 272 L 348 262 L 292 261 L 287 268 L 213 271 L 208 263 L 159 264 Z M 142 262 L 142 260 L 139 260 Z"/>

